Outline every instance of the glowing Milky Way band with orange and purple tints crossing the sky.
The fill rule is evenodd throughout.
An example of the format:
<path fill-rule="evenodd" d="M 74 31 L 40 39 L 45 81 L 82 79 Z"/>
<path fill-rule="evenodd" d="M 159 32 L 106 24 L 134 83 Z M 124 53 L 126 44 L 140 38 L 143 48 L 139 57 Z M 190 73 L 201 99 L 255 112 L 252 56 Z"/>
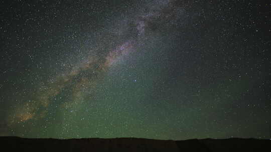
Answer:
<path fill-rule="evenodd" d="M 115 45 L 115 48 L 109 50 L 105 54 L 105 57 L 96 55 L 99 51 L 99 48 L 97 48 L 96 52 L 91 51 L 85 54 L 85 59 L 79 59 L 77 65 L 72 64 L 69 70 L 64 70 L 62 74 L 55 75 L 54 77 L 50 77 L 46 82 L 42 82 L 38 86 L 37 91 L 32 91 L 24 99 L 20 99 L 19 105 L 16 105 L 17 107 L 11 110 L 8 118 L 9 125 L 45 117 L 50 104 L 56 102 L 54 101 L 56 96 L 60 96 L 61 98 L 61 103 L 57 105 L 60 108 L 74 112 L 80 110 L 77 108 L 78 104 L 82 104 L 85 96 L 93 97 L 95 95 L 93 92 L 97 87 L 98 80 L 103 78 L 108 68 L 120 62 L 124 56 L 129 55 L 129 52 L 137 51 L 135 50 L 137 45 L 140 45 L 141 40 L 146 38 L 144 37 L 146 28 L 150 28 L 149 26 L 155 24 L 155 21 L 163 22 L 159 20 L 165 19 L 162 17 L 166 17 L 167 19 L 173 15 L 171 12 L 163 12 L 166 9 L 174 9 L 173 4 L 174 1 L 169 2 L 168 0 L 151 2 L 149 5 L 152 5 L 151 7 L 153 8 L 147 7 L 148 12 L 140 15 L 137 13 L 132 15 L 128 23 L 132 24 L 131 26 L 133 27 L 129 30 L 134 31 L 134 35 Z M 122 32 L 121 30 L 119 32 Z M 128 34 L 131 31 L 127 31 Z M 69 94 L 62 97 L 61 94 L 67 90 Z"/>

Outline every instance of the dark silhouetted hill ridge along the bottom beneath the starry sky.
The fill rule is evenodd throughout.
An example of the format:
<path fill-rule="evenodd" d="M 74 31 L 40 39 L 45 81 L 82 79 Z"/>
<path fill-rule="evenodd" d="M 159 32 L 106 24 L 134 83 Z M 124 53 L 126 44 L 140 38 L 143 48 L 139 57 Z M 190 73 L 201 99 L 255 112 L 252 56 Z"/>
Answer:
<path fill-rule="evenodd" d="M 8 151 L 270 151 L 267 139 L 189 139 L 146 138 L 21 138 L 0 137 L 1 149 Z M 6 151 L 7 151 L 6 150 Z"/>

